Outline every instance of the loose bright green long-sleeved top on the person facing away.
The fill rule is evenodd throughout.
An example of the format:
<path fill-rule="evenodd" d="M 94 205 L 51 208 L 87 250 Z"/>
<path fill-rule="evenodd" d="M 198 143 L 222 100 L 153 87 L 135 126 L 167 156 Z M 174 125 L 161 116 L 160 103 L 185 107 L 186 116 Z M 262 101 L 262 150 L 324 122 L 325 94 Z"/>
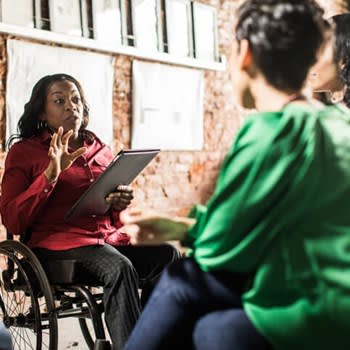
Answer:
<path fill-rule="evenodd" d="M 277 350 L 350 349 L 350 114 L 289 104 L 240 130 L 187 243 L 254 277 L 243 305 Z"/>

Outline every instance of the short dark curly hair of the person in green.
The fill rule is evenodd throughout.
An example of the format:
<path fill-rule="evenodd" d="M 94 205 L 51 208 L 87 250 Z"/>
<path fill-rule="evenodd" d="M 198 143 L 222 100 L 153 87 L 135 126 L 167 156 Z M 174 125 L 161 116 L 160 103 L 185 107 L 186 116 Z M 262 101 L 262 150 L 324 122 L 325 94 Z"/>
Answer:
<path fill-rule="evenodd" d="M 237 40 L 248 40 L 254 62 L 275 88 L 298 91 L 325 35 L 314 0 L 246 0 L 238 8 Z"/>

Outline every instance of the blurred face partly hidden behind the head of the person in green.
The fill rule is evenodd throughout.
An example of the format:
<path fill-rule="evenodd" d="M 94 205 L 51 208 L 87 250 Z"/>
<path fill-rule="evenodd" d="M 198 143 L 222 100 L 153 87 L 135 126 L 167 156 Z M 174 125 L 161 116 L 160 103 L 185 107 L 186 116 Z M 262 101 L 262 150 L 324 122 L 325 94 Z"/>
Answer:
<path fill-rule="evenodd" d="M 333 45 L 333 40 L 328 39 L 316 64 L 310 69 L 308 83 L 314 92 L 333 92 L 341 87 L 337 65 L 333 59 Z"/>

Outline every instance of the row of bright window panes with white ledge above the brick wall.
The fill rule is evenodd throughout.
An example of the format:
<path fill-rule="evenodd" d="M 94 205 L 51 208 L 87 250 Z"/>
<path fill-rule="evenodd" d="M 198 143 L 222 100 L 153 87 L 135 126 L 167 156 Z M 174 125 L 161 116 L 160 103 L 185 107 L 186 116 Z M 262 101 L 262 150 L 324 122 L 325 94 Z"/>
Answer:
<path fill-rule="evenodd" d="M 2 33 L 222 70 L 216 26 L 216 8 L 193 0 L 0 0 Z"/>

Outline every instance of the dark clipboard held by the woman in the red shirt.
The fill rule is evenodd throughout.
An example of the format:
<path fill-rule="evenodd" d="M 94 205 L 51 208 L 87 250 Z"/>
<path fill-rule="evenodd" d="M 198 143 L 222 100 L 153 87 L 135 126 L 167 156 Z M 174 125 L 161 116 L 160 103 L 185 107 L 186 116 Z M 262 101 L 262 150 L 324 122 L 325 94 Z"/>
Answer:
<path fill-rule="evenodd" d="M 119 185 L 129 185 L 160 149 L 122 150 L 107 169 L 80 196 L 64 216 L 69 222 L 80 216 L 104 215 L 110 208 L 106 197 Z"/>

